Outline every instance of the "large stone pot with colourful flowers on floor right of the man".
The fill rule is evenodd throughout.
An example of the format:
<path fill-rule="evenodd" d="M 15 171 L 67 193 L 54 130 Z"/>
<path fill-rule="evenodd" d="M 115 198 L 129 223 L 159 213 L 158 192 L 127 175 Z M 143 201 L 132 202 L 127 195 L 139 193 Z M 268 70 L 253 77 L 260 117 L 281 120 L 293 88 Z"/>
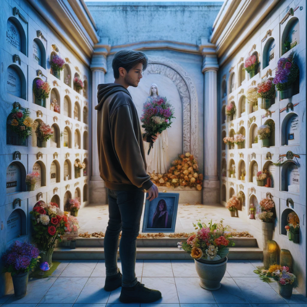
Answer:
<path fill-rule="evenodd" d="M 234 246 L 228 239 L 231 236 L 229 227 L 223 226 L 223 220 L 218 224 L 211 220 L 208 225 L 198 221 L 193 226 L 198 232 L 193 233 L 186 243 L 179 242 L 178 246 L 194 258 L 200 286 L 207 290 L 220 289 L 226 272 L 228 246 Z"/>

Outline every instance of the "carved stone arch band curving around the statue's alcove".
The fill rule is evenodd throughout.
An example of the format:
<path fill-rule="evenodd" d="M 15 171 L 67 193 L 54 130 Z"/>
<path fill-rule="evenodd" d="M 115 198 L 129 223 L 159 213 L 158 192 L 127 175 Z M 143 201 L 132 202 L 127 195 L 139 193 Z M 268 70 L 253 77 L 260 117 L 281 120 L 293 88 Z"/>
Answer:
<path fill-rule="evenodd" d="M 198 97 L 191 77 L 177 63 L 162 56 L 148 58 L 144 74 L 160 74 L 169 78 L 177 87 L 183 112 L 183 152 L 198 158 Z"/>

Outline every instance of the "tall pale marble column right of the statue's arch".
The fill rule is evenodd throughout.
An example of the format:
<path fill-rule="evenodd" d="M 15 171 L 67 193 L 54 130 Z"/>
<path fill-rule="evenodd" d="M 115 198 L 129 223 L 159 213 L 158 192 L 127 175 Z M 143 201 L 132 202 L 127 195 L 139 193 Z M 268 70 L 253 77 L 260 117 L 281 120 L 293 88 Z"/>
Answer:
<path fill-rule="evenodd" d="M 217 70 L 215 54 L 204 55 L 204 183 L 203 203 L 220 203 L 217 172 Z"/>

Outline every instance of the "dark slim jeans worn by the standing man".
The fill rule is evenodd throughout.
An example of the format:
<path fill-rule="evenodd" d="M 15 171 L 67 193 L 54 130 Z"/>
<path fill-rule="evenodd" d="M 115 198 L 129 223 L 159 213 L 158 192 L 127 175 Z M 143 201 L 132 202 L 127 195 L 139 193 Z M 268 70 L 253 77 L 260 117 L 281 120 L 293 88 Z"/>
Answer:
<path fill-rule="evenodd" d="M 106 276 L 116 275 L 118 237 L 122 230 L 119 255 L 122 264 L 122 286 L 133 287 L 137 283 L 135 266 L 136 240 L 139 235 L 144 203 L 141 190 L 116 191 L 107 189 L 109 221 L 104 237 Z"/>

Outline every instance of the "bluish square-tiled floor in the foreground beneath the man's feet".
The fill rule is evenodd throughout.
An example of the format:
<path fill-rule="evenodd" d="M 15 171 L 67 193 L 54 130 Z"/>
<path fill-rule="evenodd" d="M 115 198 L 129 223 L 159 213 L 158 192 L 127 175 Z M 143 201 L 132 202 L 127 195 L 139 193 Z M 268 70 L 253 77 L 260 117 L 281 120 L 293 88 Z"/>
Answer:
<path fill-rule="evenodd" d="M 307 298 L 294 290 L 290 299 L 278 294 L 276 282 L 262 282 L 253 270 L 259 261 L 229 260 L 222 287 L 200 287 L 193 260 L 137 260 L 136 275 L 148 288 L 160 290 L 162 299 L 131 307 L 307 307 Z M 120 262 L 119 262 L 119 268 Z M 0 306 L 20 307 L 122 307 L 120 288 L 103 290 L 103 260 L 63 260 L 51 277 L 30 278 L 27 295 L 0 298 Z"/>

